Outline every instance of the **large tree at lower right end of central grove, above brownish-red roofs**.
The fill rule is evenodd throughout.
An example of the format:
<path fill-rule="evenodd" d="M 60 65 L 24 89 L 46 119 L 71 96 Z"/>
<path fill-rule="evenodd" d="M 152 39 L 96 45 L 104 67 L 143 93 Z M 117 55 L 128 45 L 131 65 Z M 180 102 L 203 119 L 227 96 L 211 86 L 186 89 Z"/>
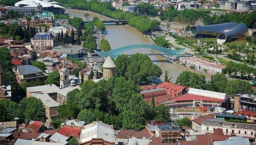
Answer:
<path fill-rule="evenodd" d="M 143 101 L 142 95 L 133 94 L 126 109 L 122 112 L 124 115 L 123 128 L 136 131 L 144 128 L 145 121 L 148 119 L 148 109 L 149 105 Z"/>

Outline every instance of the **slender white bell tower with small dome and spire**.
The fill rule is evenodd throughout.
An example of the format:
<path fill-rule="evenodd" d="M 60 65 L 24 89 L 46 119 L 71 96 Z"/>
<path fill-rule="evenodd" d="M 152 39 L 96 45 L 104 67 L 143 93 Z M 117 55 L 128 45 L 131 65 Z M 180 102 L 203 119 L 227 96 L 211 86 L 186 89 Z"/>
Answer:
<path fill-rule="evenodd" d="M 64 58 L 63 67 L 60 69 L 60 88 L 68 87 L 68 85 L 69 85 L 69 73 L 68 73 L 68 69 L 66 68 L 65 58 Z"/>

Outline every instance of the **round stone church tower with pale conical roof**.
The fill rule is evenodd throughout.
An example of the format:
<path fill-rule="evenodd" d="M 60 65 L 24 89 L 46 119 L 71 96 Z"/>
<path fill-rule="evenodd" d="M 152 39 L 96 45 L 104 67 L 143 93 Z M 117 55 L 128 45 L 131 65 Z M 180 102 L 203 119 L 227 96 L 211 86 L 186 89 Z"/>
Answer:
<path fill-rule="evenodd" d="M 114 77 L 116 74 L 116 65 L 113 60 L 108 56 L 102 65 L 103 68 L 103 78 L 110 79 L 110 77 Z"/>

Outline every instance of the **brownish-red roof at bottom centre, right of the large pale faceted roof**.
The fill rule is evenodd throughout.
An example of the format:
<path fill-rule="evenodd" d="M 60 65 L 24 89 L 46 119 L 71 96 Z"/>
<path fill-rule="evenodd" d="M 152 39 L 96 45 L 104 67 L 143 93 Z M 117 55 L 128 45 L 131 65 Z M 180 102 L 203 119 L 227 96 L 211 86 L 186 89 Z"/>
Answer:
<path fill-rule="evenodd" d="M 143 129 L 142 131 L 127 129 L 127 130 L 120 130 L 116 138 L 127 139 L 127 137 L 129 137 L 130 134 L 132 135 L 132 137 L 136 137 L 137 139 L 142 139 L 143 137 L 146 137 L 146 139 L 148 139 L 148 137 L 151 137 L 147 129 Z"/>

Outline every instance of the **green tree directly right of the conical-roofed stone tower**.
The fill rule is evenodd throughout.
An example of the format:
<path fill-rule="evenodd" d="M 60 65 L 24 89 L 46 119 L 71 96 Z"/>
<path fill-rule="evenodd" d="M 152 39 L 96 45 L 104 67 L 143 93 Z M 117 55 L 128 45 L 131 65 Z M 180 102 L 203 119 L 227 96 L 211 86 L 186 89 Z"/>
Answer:
<path fill-rule="evenodd" d="M 114 63 L 116 65 L 116 75 L 118 77 L 125 76 L 128 67 L 128 59 L 129 57 L 127 55 L 121 54 L 114 60 Z"/>

